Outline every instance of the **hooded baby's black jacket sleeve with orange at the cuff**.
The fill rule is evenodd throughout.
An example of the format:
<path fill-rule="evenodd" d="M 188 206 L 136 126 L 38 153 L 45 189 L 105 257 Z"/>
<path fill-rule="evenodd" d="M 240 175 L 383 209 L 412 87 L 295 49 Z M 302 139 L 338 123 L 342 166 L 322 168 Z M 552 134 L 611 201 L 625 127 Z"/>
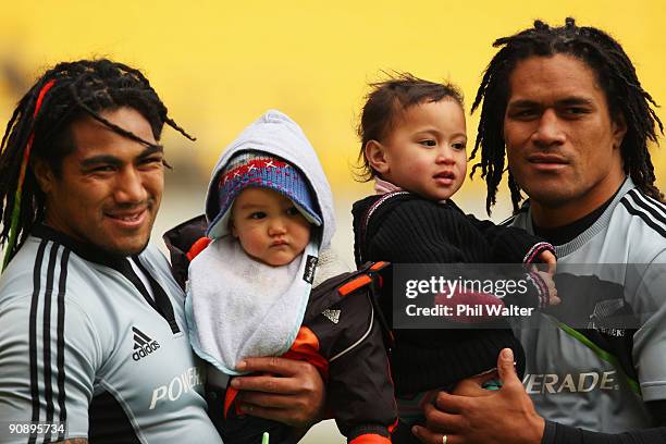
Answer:
<path fill-rule="evenodd" d="M 368 317 L 354 329 L 355 341 L 330 357 L 328 407 L 348 442 L 372 435 L 372 442 L 388 443 L 397 410 L 380 322 L 366 292 L 347 296 L 346 303 L 351 303 L 346 312 Z"/>

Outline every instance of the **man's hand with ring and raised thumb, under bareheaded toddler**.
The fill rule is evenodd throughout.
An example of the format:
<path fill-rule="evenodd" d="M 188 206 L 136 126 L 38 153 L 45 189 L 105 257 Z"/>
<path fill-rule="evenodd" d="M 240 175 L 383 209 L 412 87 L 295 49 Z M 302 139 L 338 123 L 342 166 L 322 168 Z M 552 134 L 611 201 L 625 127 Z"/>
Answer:
<path fill-rule="evenodd" d="M 436 408 L 425 407 L 427 427 L 412 429 L 427 444 L 539 444 L 545 421 L 534 410 L 514 369 L 514 354 L 505 348 L 497 359 L 504 386 L 482 393 L 478 383 L 456 387 L 466 396 L 441 392 Z M 458 384 L 460 385 L 460 384 Z M 443 439 L 446 435 L 446 440 Z"/>

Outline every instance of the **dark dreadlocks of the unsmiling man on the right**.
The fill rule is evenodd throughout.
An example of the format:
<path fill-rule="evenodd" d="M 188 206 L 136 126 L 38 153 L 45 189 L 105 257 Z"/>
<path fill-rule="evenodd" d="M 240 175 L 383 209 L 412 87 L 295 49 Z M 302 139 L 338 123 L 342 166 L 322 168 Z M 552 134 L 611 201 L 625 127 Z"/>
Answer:
<path fill-rule="evenodd" d="M 595 72 L 612 119 L 617 121 L 624 118 L 627 124 L 627 134 L 620 146 L 625 173 L 631 176 L 643 193 L 664 201 L 664 195 L 654 185 L 654 165 L 648 151 L 648 140 L 657 143 L 656 125 L 661 134 L 664 134 L 662 121 L 653 109 L 657 104 L 641 87 L 633 64 L 613 37 L 594 27 L 579 27 L 571 17 L 567 17 L 562 27 L 551 27 L 538 20 L 533 28 L 498 38 L 493 47 L 501 49 L 488 65 L 471 107 L 471 112 L 474 112 L 483 101 L 477 141 L 470 159 L 481 148 L 481 161 L 472 168 L 471 174 L 481 169 L 481 177 L 488 187 L 485 208 L 489 214 L 505 170 L 503 133 L 510 92 L 509 76 L 522 60 L 555 54 L 571 55 Z M 510 171 L 508 187 L 514 211 L 517 211 L 522 196 Z"/>

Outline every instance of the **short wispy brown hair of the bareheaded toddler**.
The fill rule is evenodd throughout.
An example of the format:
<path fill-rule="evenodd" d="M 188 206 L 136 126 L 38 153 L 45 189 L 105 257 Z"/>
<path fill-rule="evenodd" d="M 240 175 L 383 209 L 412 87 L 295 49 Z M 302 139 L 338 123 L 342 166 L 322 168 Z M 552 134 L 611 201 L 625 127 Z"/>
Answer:
<path fill-rule="evenodd" d="M 377 176 L 366 158 L 366 144 L 383 140 L 395 126 L 400 114 L 410 107 L 443 99 L 456 101 L 462 108 L 462 94 L 451 83 L 434 83 L 418 78 L 409 73 L 396 73 L 383 82 L 370 84 L 372 90 L 366 97 L 357 128 L 361 141 L 356 173 L 359 182 Z"/>

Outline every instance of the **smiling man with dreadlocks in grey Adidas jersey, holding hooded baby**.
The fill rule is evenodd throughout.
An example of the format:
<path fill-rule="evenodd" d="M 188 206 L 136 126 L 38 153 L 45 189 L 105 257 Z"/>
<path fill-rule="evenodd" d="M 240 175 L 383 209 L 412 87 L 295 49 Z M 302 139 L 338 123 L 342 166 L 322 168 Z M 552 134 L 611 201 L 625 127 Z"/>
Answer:
<path fill-rule="evenodd" d="M 221 442 L 183 292 L 148 246 L 164 124 L 192 138 L 139 71 L 110 60 L 58 64 L 14 111 L 0 153 L 0 442 Z M 303 386 L 321 397 L 321 383 L 269 363 L 292 378 L 239 388 L 317 408 Z"/>

